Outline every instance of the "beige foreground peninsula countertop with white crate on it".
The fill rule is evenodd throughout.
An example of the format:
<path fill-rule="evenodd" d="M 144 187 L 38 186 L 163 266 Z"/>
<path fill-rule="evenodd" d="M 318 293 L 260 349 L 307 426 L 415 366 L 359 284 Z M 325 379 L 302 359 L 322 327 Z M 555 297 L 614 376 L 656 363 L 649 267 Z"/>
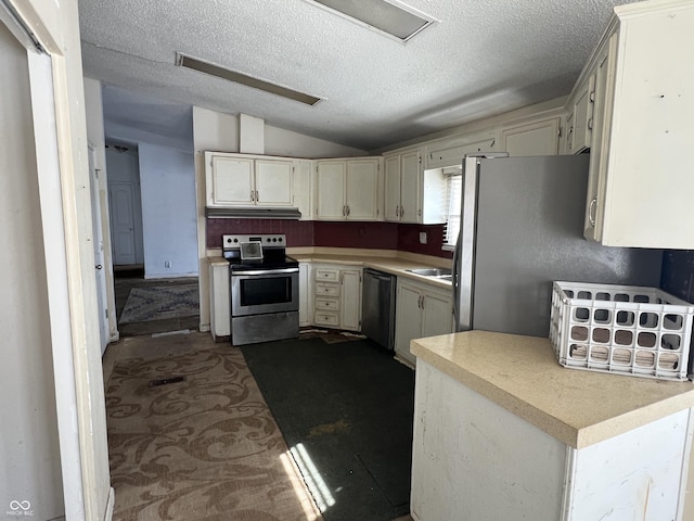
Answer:
<path fill-rule="evenodd" d="M 694 384 L 562 367 L 547 339 L 468 331 L 413 355 L 575 448 L 694 406 Z"/>

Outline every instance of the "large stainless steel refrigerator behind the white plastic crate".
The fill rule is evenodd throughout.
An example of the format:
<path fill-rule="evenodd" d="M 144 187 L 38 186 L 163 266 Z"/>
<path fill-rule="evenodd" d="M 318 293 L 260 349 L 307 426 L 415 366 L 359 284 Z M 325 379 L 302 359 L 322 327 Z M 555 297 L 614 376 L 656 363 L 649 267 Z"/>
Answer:
<path fill-rule="evenodd" d="M 658 287 L 660 250 L 583 239 L 588 155 L 465 157 L 458 331 L 548 336 L 552 281 Z"/>

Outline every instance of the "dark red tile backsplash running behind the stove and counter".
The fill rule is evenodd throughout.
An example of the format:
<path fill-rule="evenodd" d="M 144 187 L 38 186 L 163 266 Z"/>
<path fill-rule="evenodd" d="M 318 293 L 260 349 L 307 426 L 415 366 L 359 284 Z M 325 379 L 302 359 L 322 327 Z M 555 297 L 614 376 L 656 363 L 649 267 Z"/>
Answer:
<path fill-rule="evenodd" d="M 426 232 L 426 244 L 420 243 Z M 290 246 L 363 247 L 401 250 L 451 258 L 441 250 L 442 225 L 401 225 L 398 223 L 329 223 L 281 219 L 207 219 L 207 247 L 221 247 L 224 233 L 284 233 Z"/>

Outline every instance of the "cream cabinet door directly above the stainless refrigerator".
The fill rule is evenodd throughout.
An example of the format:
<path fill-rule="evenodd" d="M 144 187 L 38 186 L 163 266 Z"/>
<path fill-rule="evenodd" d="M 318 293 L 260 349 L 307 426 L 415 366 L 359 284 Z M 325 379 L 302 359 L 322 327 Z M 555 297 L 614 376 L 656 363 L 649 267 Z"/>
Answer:
<path fill-rule="evenodd" d="M 501 130 L 501 149 L 513 156 L 556 155 L 560 147 L 560 118 L 509 127 Z"/>

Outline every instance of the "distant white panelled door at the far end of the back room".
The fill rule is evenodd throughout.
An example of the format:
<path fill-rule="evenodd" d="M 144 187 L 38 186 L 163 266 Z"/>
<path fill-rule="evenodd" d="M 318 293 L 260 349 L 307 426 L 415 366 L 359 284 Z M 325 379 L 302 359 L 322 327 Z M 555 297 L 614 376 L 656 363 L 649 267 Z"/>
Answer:
<path fill-rule="evenodd" d="M 134 187 L 131 182 L 108 183 L 111 240 L 115 265 L 136 264 Z"/>

